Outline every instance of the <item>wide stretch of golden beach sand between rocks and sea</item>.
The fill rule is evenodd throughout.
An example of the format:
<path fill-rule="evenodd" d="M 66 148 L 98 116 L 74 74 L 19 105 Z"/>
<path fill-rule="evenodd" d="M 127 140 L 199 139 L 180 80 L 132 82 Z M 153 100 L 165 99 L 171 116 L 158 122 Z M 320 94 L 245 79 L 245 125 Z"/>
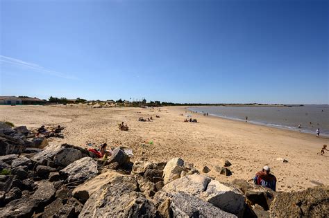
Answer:
<path fill-rule="evenodd" d="M 140 111 L 141 113 L 137 113 Z M 303 190 L 314 185 L 329 185 L 329 153 L 320 156 L 328 138 L 296 131 L 275 129 L 223 118 L 204 117 L 192 113 L 198 123 L 183 122 L 184 107 L 158 109 L 108 108 L 91 109 L 58 106 L 0 106 L 0 120 L 26 125 L 62 125 L 65 138 L 53 138 L 50 144 L 69 143 L 88 147 L 87 143 L 108 143 L 111 147 L 133 149 L 132 161 L 168 161 L 183 158 L 202 170 L 207 165 L 219 181 L 251 179 L 264 165 L 269 165 L 278 179 L 278 191 Z M 187 113 L 189 113 L 187 111 Z M 155 118 L 159 115 L 160 118 Z M 153 116 L 153 122 L 138 122 L 138 118 Z M 119 131 L 124 121 L 129 131 Z M 145 142 L 153 141 L 153 145 Z M 146 145 L 143 145 L 146 144 Z M 285 158 L 282 163 L 276 158 Z M 232 163 L 232 176 L 223 176 L 214 167 L 221 160 Z"/>

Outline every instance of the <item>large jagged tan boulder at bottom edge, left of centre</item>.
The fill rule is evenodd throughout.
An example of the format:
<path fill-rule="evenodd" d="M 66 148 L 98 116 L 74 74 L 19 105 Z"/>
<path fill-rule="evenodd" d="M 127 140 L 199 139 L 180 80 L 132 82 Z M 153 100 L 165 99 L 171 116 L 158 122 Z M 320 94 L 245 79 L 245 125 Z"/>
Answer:
<path fill-rule="evenodd" d="M 103 185 L 85 202 L 79 217 L 155 217 L 157 211 L 152 201 L 136 190 L 134 182 L 128 185 L 118 180 Z"/>

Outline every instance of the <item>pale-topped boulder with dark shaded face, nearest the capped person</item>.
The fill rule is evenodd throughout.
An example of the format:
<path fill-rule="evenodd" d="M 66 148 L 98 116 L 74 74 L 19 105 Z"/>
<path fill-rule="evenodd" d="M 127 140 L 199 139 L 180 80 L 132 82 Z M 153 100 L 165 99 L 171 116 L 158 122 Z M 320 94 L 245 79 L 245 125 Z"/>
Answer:
<path fill-rule="evenodd" d="M 208 183 L 207 190 L 199 195 L 201 199 L 212 203 L 217 208 L 242 217 L 244 212 L 244 196 L 233 187 L 223 185 L 212 180 Z"/>

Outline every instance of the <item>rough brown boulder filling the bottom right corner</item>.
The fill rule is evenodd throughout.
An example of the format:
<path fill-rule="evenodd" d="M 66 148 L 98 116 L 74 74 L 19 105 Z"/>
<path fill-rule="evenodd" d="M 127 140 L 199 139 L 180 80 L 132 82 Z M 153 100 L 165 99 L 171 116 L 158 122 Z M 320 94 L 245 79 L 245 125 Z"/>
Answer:
<path fill-rule="evenodd" d="M 328 217 L 329 186 L 282 192 L 271 204 L 271 217 Z"/>

